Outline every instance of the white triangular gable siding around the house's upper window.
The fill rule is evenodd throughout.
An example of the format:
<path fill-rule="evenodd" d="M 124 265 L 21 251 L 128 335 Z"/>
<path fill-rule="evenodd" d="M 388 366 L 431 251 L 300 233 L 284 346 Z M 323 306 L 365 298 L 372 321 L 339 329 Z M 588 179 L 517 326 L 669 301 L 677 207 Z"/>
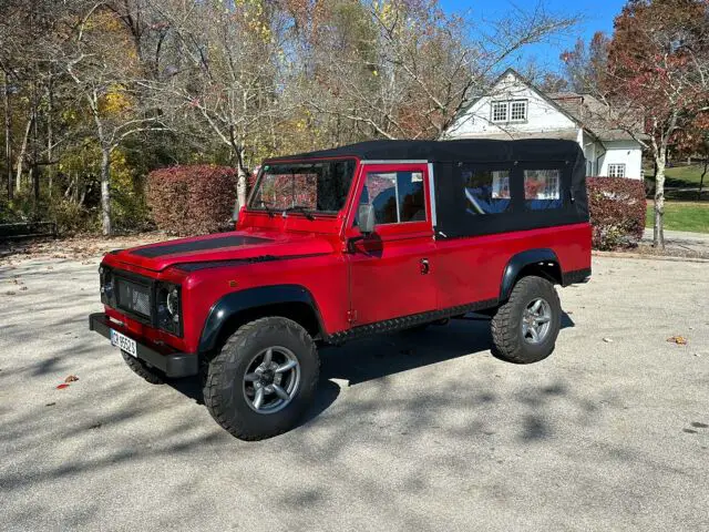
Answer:
<path fill-rule="evenodd" d="M 496 124 L 492 122 L 492 102 L 508 100 L 526 100 L 527 120 L 511 124 Z M 465 115 L 456 120 L 445 132 L 448 139 L 474 139 L 489 135 L 504 135 L 507 131 L 521 133 L 544 133 L 545 131 L 571 130 L 576 124 L 558 109 L 547 102 L 540 94 L 524 83 L 520 83 L 512 73 L 508 73 L 490 96 L 480 99 L 467 110 Z"/>

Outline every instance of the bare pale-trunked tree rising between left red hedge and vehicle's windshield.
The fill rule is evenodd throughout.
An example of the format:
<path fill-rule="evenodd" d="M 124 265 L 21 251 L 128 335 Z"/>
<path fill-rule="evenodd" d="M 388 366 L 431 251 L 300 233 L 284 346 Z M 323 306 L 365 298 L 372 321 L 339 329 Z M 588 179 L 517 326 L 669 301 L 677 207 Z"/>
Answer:
<path fill-rule="evenodd" d="M 257 139 L 288 113 L 287 64 L 279 11 L 264 2 L 154 2 L 176 50 L 173 64 L 150 82 L 172 120 L 192 115 L 225 146 L 246 202 Z"/>

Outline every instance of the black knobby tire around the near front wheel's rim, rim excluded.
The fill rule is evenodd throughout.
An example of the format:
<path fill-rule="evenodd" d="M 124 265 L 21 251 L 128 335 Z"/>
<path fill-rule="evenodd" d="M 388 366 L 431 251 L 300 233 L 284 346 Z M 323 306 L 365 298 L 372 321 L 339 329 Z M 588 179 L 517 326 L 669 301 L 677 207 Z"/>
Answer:
<path fill-rule="evenodd" d="M 244 397 L 247 366 L 259 351 L 274 346 L 290 349 L 300 366 L 297 395 L 274 413 L 258 413 Z M 242 326 L 209 361 L 204 403 L 212 417 L 242 440 L 261 440 L 294 428 L 310 406 L 318 383 L 320 358 L 310 335 L 297 323 L 280 317 L 260 318 Z"/>

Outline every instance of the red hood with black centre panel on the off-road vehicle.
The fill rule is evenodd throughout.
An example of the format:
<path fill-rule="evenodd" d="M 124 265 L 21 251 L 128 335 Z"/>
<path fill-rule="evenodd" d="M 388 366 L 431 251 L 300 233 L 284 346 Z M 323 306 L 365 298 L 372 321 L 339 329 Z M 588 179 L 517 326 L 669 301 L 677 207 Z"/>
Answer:
<path fill-rule="evenodd" d="M 331 238 L 312 233 L 230 232 L 122 249 L 112 254 L 111 262 L 161 272 L 179 264 L 325 255 L 333 252 Z"/>

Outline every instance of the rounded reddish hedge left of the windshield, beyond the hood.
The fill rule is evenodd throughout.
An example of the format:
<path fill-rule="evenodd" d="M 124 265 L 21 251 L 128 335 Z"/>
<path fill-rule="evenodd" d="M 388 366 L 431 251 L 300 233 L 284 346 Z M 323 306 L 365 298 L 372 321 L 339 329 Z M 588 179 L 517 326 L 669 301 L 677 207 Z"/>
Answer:
<path fill-rule="evenodd" d="M 214 233 L 228 224 L 236 171 L 225 166 L 172 166 L 147 176 L 147 204 L 157 227 L 175 235 Z"/>

